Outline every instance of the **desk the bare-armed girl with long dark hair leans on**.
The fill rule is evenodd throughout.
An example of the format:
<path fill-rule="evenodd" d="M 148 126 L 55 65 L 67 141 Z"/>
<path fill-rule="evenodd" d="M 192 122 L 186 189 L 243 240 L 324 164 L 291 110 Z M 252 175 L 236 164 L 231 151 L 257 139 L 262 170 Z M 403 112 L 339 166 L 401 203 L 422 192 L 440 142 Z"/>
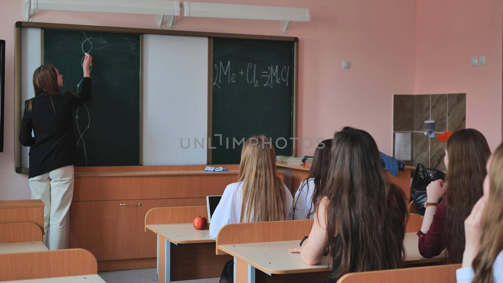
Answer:
<path fill-rule="evenodd" d="M 283 241 L 253 244 L 219 245 L 218 249 L 232 256 L 235 260 L 235 283 L 255 282 L 256 269 L 269 275 L 272 274 L 296 274 L 307 272 L 320 272 L 327 279 L 329 259 L 324 258 L 318 265 L 307 265 L 302 261 L 300 254 L 288 253 L 288 249 L 298 247 L 300 241 Z M 423 258 L 417 250 L 417 236 L 415 233 L 407 233 L 404 238 L 406 257 L 403 265 L 414 265 L 421 263 L 433 263 L 441 261 L 442 258 Z M 259 274 L 257 274 L 259 275 Z M 299 276 L 297 274 L 296 276 Z M 316 276 L 315 273 L 307 274 L 310 278 Z M 296 277 L 299 278 L 299 277 Z M 264 281 L 260 279 L 258 281 Z"/>

